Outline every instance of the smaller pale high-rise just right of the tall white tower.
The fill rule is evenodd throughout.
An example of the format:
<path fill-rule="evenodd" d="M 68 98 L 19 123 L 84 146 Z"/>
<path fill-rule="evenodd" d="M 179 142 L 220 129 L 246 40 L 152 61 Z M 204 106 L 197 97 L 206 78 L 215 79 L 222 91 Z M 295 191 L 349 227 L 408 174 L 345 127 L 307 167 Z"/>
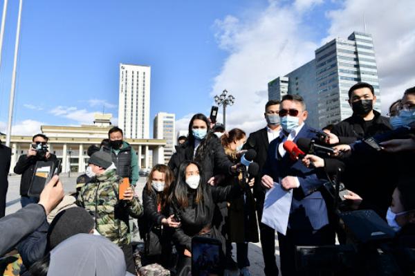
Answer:
<path fill-rule="evenodd" d="M 159 112 L 154 118 L 154 139 L 165 139 L 164 148 L 165 163 L 169 163 L 170 157 L 174 153 L 175 137 L 175 116 L 174 113 Z"/>

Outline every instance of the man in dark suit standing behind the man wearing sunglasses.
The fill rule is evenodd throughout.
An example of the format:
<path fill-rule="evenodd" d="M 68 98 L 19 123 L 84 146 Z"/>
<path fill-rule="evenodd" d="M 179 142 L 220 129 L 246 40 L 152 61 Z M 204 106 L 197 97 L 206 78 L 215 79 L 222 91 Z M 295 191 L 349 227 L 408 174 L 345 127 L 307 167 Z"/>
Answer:
<path fill-rule="evenodd" d="M 249 135 L 243 149 L 255 149 L 257 157 L 255 163 L 259 165 L 259 172 L 262 171 L 268 153 L 268 145 L 275 138 L 279 137 L 281 126 L 279 125 L 279 100 L 270 100 L 265 105 L 265 119 L 267 126 Z M 278 275 L 278 267 L 275 261 L 275 230 L 261 223 L 262 209 L 264 207 L 265 190 L 261 186 L 262 174 L 255 177 L 254 196 L 257 200 L 257 214 L 259 221 L 259 231 L 261 233 L 261 248 L 264 257 L 264 273 L 268 275 Z"/>

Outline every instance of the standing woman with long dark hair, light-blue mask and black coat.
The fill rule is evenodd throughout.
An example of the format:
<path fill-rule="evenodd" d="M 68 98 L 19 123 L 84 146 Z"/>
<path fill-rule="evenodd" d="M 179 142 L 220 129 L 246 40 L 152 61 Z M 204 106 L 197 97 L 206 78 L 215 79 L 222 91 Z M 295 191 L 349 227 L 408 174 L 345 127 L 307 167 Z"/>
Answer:
<path fill-rule="evenodd" d="M 225 155 L 220 140 L 210 131 L 208 118 L 201 113 L 192 117 L 189 123 L 187 142 L 176 149 L 169 160 L 169 167 L 177 176 L 178 167 L 184 161 L 196 161 L 203 168 L 203 177 L 212 183 L 216 174 L 230 176 L 236 166 Z M 233 167 L 232 167 L 233 166 Z"/>

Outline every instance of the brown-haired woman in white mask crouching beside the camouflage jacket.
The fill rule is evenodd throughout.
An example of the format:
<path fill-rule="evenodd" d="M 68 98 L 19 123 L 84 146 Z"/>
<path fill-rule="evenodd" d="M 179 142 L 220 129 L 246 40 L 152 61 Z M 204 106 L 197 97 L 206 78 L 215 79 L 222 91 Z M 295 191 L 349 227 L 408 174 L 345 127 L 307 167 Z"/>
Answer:
<path fill-rule="evenodd" d="M 169 257 L 172 254 L 172 228 L 180 226 L 174 221 L 174 215 L 169 216 L 169 191 L 174 181 L 171 169 L 166 165 L 155 165 L 149 174 L 147 183 L 142 190 L 142 205 L 144 207 L 145 239 L 158 239 L 160 252 L 154 248 L 154 242 L 146 242 L 146 252 L 151 263 L 159 263 L 169 268 Z M 151 235 L 150 235 L 151 232 Z"/>

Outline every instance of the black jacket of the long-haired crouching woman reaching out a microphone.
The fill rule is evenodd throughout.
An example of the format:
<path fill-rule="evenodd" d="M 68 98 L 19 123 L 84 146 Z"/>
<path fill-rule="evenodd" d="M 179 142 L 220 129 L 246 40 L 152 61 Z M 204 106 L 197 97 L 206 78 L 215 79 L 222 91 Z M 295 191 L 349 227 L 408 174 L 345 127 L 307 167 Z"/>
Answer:
<path fill-rule="evenodd" d="M 190 191 L 187 197 L 189 205 L 186 208 L 181 208 L 177 203 L 172 203 L 170 214 L 174 214 L 175 217 L 179 217 L 181 220 L 181 227 L 174 228 L 173 234 L 174 242 L 178 248 L 191 251 L 192 237 L 199 235 L 203 228 L 212 226 L 216 203 L 231 201 L 240 194 L 239 185 L 220 187 L 206 184 L 203 185 L 203 201 L 196 203 L 196 194 L 194 191 Z M 222 241 L 223 252 L 225 252 L 225 240 L 216 228 L 212 227 L 212 230 L 206 236 Z"/>

